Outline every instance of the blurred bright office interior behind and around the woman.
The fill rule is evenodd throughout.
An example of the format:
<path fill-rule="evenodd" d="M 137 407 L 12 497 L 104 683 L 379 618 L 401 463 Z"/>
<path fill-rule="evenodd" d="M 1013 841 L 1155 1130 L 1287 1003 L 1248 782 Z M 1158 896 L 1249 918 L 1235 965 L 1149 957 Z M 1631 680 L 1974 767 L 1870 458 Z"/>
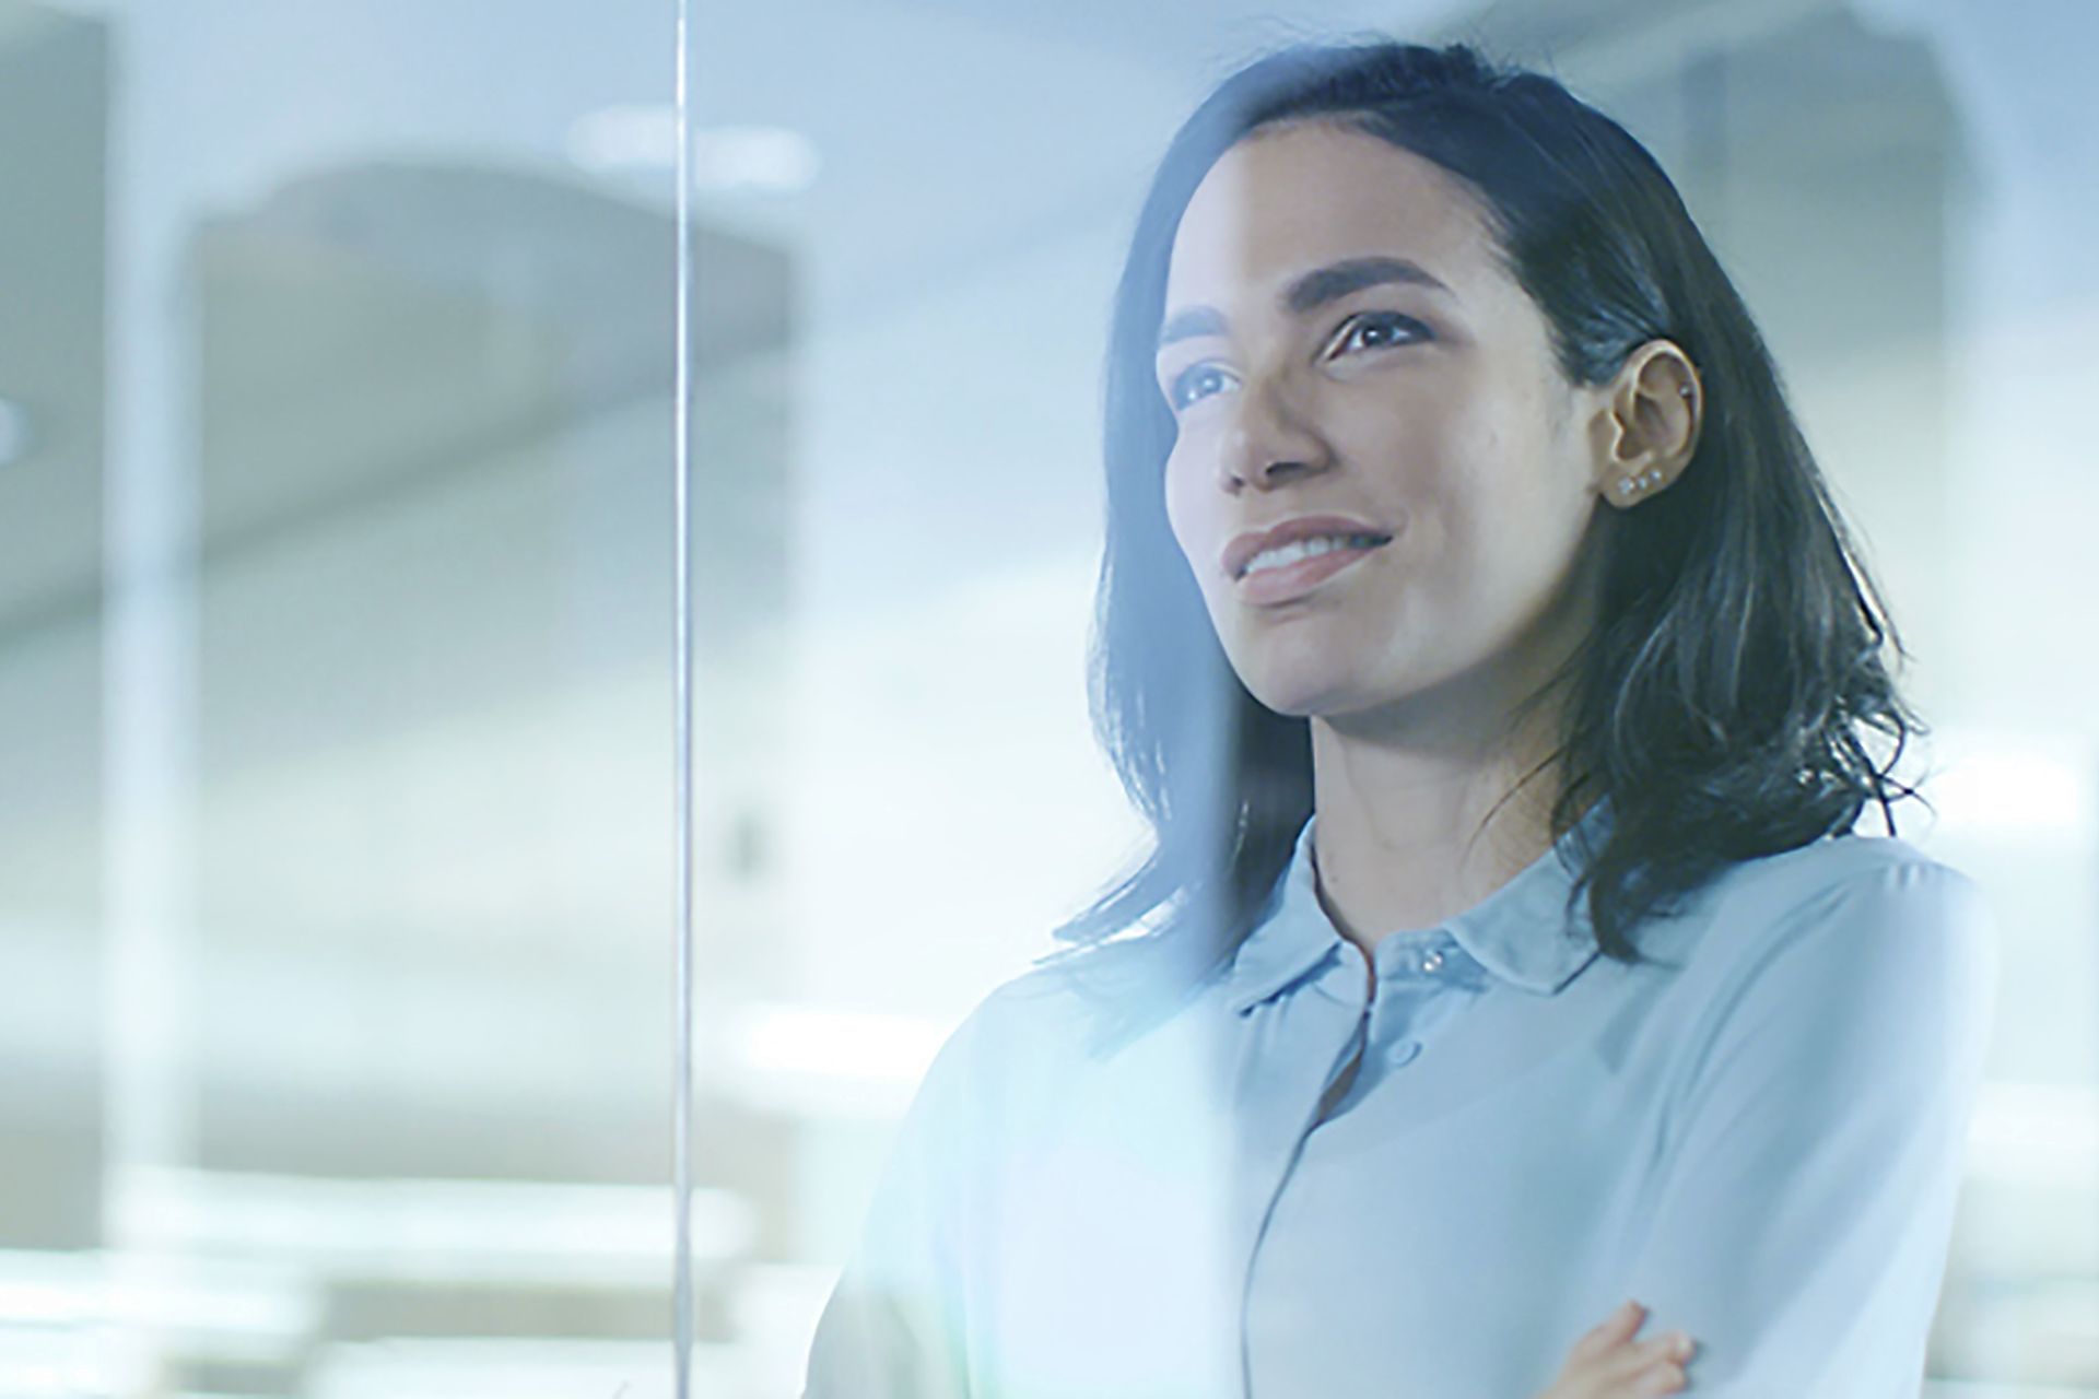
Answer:
<path fill-rule="evenodd" d="M 2005 929 L 1929 1393 L 2099 1395 L 2099 10 L 695 6 L 684 229 L 674 21 L 0 0 L 0 1395 L 670 1393 L 680 333 L 695 1391 L 796 1393 L 928 1055 L 1140 843 L 1144 178 L 1364 27 L 1549 63 L 1761 315 Z"/>

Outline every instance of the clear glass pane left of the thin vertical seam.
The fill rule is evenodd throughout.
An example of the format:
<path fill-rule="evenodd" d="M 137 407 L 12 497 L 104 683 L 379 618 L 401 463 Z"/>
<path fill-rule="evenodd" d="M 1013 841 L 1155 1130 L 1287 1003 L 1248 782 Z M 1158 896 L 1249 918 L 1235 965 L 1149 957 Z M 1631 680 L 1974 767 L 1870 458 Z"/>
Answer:
<path fill-rule="evenodd" d="M 672 19 L 0 0 L 0 1393 L 670 1393 Z"/>

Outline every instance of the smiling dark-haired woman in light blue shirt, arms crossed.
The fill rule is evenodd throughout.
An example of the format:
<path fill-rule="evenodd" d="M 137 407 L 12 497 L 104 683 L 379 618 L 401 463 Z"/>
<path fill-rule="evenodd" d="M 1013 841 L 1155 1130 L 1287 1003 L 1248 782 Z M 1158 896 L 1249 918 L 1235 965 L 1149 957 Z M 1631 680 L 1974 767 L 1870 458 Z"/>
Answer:
<path fill-rule="evenodd" d="M 1157 847 L 942 1047 L 808 1395 L 1914 1395 L 1994 940 L 1851 835 L 1891 631 L 1654 159 L 1467 48 L 1261 59 L 1106 411 Z"/>

